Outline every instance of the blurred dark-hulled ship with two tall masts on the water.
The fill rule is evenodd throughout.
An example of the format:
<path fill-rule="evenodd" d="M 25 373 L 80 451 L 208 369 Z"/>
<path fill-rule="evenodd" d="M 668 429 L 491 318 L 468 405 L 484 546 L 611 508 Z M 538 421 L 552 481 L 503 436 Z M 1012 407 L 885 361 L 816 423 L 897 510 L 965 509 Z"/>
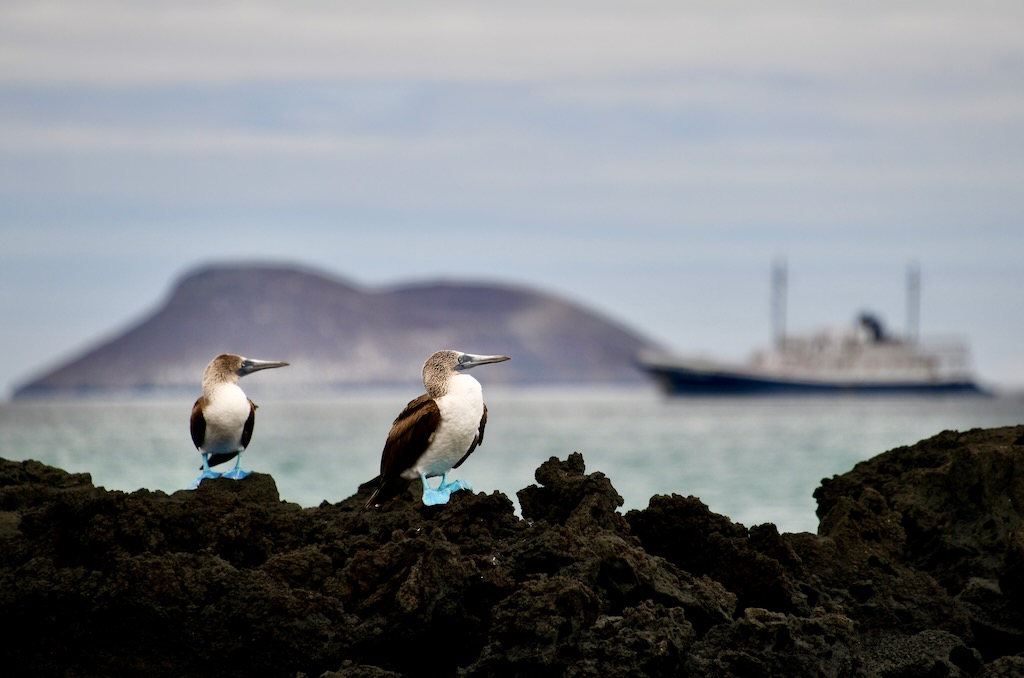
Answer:
<path fill-rule="evenodd" d="M 785 269 L 777 266 L 772 295 L 775 341 L 748 362 L 645 349 L 637 356 L 638 367 L 670 395 L 984 392 L 974 377 L 965 340 L 918 337 L 915 268 L 908 277 L 905 336 L 890 333 L 870 312 L 860 313 L 847 328 L 786 336 L 784 288 Z"/>

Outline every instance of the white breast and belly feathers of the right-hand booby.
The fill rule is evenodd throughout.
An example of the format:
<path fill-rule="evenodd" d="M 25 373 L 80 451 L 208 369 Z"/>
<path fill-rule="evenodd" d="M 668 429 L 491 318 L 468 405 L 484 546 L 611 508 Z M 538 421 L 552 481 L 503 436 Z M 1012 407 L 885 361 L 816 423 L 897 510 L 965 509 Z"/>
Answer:
<path fill-rule="evenodd" d="M 414 467 L 417 474 L 424 473 L 427 477 L 446 473 L 459 463 L 476 440 L 483 419 L 480 382 L 467 374 L 453 377 L 447 393 L 436 402 L 441 413 L 440 424 Z"/>

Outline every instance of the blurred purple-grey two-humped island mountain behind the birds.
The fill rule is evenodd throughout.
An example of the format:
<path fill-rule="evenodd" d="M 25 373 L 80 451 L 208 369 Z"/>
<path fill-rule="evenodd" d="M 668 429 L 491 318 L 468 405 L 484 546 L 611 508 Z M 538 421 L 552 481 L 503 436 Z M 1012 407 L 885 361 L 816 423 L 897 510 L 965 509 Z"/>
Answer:
<path fill-rule="evenodd" d="M 291 363 L 267 378 L 272 387 L 413 386 L 440 348 L 511 355 L 487 371 L 490 384 L 639 383 L 634 356 L 650 345 L 577 304 L 511 286 L 372 290 L 294 266 L 211 265 L 182 278 L 153 314 L 14 397 L 195 390 L 206 364 L 225 352 Z"/>

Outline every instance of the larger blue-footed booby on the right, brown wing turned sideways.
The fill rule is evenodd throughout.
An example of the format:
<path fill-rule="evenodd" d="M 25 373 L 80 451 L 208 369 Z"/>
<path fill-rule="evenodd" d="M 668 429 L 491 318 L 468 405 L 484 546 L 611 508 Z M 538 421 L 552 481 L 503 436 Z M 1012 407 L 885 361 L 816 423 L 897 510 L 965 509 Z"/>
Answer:
<path fill-rule="evenodd" d="M 406 406 L 391 425 L 381 455 L 381 473 L 359 485 L 376 485 L 367 508 L 401 494 L 420 478 L 423 503 L 446 504 L 453 492 L 472 490 L 466 480 L 447 481 L 447 473 L 483 442 L 487 408 L 480 382 L 466 370 L 488 363 L 502 363 L 508 355 L 474 355 L 440 350 L 423 364 L 426 393 Z M 441 476 L 436 490 L 427 478 Z"/>

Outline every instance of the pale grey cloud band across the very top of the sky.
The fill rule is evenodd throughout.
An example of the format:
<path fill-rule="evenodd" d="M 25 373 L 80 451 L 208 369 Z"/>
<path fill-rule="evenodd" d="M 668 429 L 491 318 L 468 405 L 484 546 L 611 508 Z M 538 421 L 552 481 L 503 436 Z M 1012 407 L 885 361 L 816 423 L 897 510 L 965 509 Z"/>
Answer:
<path fill-rule="evenodd" d="M 977 72 L 1021 62 L 1022 18 L 997 1 L 8 0 L 0 81 Z"/>

